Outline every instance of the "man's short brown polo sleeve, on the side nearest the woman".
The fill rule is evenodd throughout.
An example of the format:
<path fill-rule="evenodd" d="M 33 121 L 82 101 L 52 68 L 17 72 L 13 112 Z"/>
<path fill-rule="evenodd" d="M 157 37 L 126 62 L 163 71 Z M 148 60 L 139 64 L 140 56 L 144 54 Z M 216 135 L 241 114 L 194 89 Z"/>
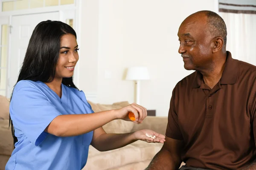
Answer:
<path fill-rule="evenodd" d="M 172 91 L 166 136 L 172 139 L 183 140 L 183 136 L 178 125 L 178 115 L 175 111 L 175 88 Z"/>

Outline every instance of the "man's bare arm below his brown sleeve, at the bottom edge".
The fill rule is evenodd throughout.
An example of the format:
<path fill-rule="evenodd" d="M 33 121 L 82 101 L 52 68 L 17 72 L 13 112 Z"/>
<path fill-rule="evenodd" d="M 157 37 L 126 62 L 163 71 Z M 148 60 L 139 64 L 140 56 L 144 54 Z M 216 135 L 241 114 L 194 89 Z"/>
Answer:
<path fill-rule="evenodd" d="M 176 140 L 166 136 L 162 149 L 154 156 L 145 170 L 178 170 L 181 160 L 183 140 Z"/>

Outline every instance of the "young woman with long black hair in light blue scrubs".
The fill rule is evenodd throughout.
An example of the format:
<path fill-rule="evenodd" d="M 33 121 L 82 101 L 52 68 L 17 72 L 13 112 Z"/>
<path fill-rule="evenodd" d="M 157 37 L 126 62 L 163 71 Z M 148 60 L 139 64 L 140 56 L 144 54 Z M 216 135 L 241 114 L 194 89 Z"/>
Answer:
<path fill-rule="evenodd" d="M 165 141 L 165 136 L 147 129 L 105 133 L 102 126 L 106 123 L 129 121 L 131 111 L 134 123 L 140 124 L 147 111 L 134 103 L 93 113 L 84 92 L 72 80 L 78 50 L 76 32 L 67 24 L 48 20 L 35 27 L 12 93 L 10 121 L 15 149 L 6 170 L 81 170 L 90 144 L 107 151 L 137 140 Z"/>

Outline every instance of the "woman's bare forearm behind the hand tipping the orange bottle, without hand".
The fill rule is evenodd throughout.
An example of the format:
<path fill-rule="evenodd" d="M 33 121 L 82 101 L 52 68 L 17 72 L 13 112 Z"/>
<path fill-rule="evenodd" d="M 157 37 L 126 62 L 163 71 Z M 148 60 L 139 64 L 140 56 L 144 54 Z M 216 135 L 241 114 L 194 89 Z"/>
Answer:
<path fill-rule="evenodd" d="M 115 110 L 91 114 L 69 114 L 55 117 L 45 129 L 55 136 L 78 136 L 88 133 L 116 119 Z"/>

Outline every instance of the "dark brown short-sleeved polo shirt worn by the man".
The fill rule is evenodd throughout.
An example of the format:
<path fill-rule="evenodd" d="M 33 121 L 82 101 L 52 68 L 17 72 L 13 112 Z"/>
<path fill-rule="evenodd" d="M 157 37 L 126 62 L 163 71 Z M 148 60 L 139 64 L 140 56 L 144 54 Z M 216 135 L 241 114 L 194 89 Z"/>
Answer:
<path fill-rule="evenodd" d="M 195 71 L 175 86 L 166 136 L 184 140 L 190 167 L 239 170 L 256 159 L 256 66 L 231 57 L 210 89 Z"/>

